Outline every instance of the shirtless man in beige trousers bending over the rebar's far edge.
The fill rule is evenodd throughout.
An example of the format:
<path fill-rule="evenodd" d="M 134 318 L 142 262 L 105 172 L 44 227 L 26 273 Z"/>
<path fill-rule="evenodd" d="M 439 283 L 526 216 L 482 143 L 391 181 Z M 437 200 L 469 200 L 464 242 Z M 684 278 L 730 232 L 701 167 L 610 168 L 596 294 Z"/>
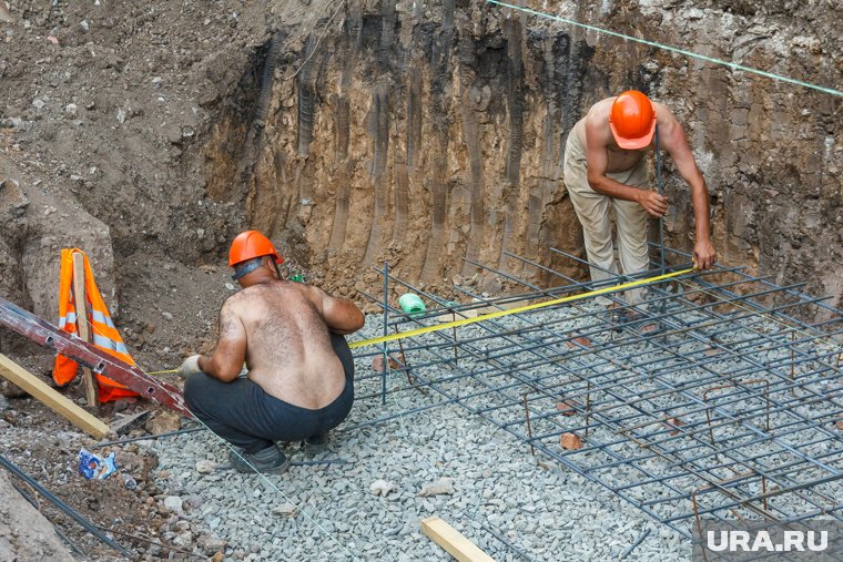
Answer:
<path fill-rule="evenodd" d="M 630 90 L 593 104 L 573 125 L 566 143 L 565 184 L 582 224 L 595 282 L 612 278 L 612 274 L 618 273 L 609 218 L 612 207 L 622 273 L 630 275 L 649 268 L 647 216 L 658 218 L 668 211 L 667 197 L 648 188 L 644 156 L 657 146 L 670 154 L 677 171 L 691 187 L 697 267 L 708 269 L 717 262 L 709 233 L 709 190 L 682 125 L 667 106 Z M 643 290 L 629 290 L 629 303 L 642 304 Z M 598 297 L 597 302 L 610 304 L 606 297 Z"/>

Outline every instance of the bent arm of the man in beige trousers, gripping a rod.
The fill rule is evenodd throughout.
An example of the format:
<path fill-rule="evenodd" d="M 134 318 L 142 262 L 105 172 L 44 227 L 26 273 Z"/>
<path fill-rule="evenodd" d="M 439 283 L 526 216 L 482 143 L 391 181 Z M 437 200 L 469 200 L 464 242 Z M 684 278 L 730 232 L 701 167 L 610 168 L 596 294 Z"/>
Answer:
<path fill-rule="evenodd" d="M 652 190 L 639 190 L 607 177 L 606 167 L 609 164 L 607 143 L 611 135 L 606 124 L 597 121 L 586 121 L 586 163 L 588 165 L 588 184 L 597 193 L 616 200 L 638 203 L 652 216 L 661 216 L 668 211 L 667 197 Z"/>

